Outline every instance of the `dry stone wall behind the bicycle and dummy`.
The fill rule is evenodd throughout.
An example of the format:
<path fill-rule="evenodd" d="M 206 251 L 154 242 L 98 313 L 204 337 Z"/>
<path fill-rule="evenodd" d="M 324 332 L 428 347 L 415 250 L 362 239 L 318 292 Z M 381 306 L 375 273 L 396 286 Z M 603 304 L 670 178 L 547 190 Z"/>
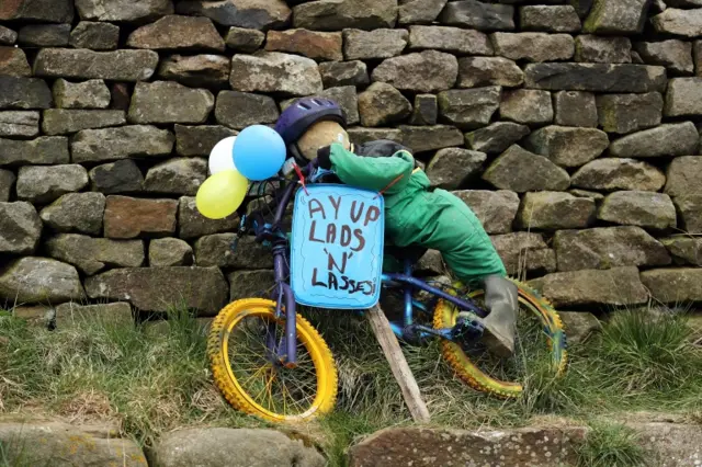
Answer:
<path fill-rule="evenodd" d="M 305 95 L 409 146 L 557 307 L 702 301 L 701 36 L 697 0 L 2 1 L 0 305 L 265 289 L 194 195 Z"/>

